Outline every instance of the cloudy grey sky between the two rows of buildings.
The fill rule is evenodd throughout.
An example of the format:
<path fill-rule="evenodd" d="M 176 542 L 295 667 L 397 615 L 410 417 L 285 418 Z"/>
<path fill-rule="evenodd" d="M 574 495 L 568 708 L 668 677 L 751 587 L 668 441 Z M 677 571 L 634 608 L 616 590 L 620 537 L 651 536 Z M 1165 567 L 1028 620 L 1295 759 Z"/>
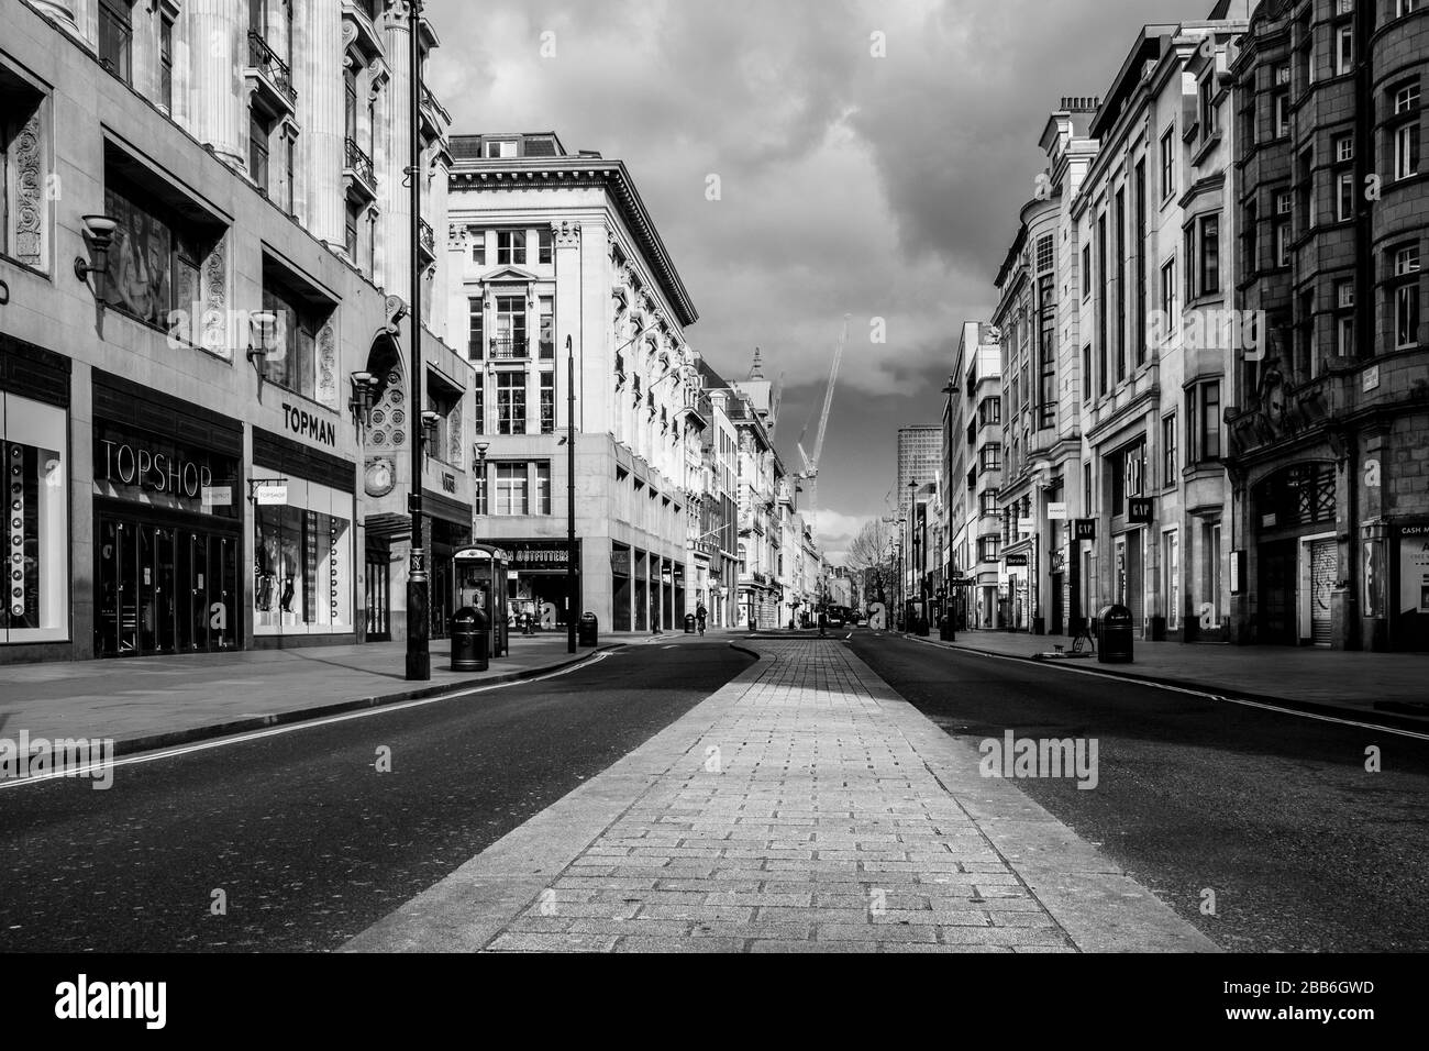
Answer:
<path fill-rule="evenodd" d="M 992 310 L 1047 113 L 1103 94 L 1142 24 L 1212 6 L 429 0 L 430 80 L 454 132 L 554 130 L 629 164 L 700 312 L 690 345 L 727 379 L 757 345 L 785 376 L 790 469 L 852 315 L 819 482 L 839 552 L 883 513 L 897 428 L 937 422 L 959 325 Z"/>

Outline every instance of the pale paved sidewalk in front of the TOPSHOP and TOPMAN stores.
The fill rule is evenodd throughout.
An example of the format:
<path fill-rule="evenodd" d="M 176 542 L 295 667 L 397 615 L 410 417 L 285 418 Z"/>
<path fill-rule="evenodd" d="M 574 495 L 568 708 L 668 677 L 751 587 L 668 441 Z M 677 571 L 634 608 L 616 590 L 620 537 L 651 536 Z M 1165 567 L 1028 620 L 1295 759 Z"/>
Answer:
<path fill-rule="evenodd" d="M 600 649 L 640 641 L 602 636 Z M 404 641 L 0 665 L 0 734 L 111 738 L 123 755 L 530 678 L 593 652 L 567 653 L 564 632 L 512 635 L 486 672 L 453 672 L 450 643 L 436 639 L 430 684 L 406 681 Z"/>

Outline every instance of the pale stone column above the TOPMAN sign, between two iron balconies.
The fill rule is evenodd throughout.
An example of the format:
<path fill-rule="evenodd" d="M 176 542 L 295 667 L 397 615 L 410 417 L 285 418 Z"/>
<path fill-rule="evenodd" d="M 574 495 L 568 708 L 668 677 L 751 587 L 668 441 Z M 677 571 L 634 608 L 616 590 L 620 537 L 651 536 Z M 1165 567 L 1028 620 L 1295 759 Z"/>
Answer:
<path fill-rule="evenodd" d="M 297 87 L 297 217 L 329 247 L 346 245 L 343 212 L 343 19 L 342 7 L 304 4 L 293 24 L 293 83 Z"/>

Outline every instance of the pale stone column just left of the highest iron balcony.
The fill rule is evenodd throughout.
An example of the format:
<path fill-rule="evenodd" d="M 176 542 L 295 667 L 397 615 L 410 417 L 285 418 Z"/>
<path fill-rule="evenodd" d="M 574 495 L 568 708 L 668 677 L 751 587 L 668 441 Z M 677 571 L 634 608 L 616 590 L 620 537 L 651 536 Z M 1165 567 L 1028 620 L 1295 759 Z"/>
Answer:
<path fill-rule="evenodd" d="M 247 7 L 230 0 L 191 0 L 183 6 L 189 41 L 189 132 L 213 146 L 221 160 L 247 170 L 249 64 Z M 181 63 L 174 61 L 177 70 Z"/>

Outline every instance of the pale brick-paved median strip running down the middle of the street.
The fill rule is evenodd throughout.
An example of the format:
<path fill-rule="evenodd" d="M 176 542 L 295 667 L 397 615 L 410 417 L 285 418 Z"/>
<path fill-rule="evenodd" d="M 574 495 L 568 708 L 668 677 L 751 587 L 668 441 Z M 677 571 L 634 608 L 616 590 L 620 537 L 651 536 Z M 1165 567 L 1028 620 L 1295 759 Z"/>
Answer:
<path fill-rule="evenodd" d="M 1215 951 L 837 642 L 760 661 L 344 951 Z"/>

